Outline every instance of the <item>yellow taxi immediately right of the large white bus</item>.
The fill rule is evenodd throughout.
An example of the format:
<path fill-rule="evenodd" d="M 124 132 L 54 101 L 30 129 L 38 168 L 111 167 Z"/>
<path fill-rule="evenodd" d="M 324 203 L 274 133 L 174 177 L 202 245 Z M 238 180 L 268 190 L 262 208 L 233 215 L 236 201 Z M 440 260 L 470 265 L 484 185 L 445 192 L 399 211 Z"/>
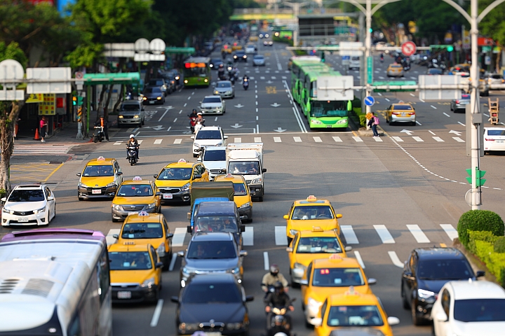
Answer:
<path fill-rule="evenodd" d="M 154 247 L 125 241 L 108 250 L 112 302 L 157 302 L 163 262 Z"/>

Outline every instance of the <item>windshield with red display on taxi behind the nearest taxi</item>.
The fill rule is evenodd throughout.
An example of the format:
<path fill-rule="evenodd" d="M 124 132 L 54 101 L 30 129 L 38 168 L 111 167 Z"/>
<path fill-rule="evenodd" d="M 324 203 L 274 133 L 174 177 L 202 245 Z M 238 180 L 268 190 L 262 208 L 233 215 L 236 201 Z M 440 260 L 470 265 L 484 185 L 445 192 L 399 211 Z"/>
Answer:
<path fill-rule="evenodd" d="M 364 284 L 359 268 L 318 268 L 314 269 L 312 278 L 312 286 L 316 287 L 349 287 Z"/>

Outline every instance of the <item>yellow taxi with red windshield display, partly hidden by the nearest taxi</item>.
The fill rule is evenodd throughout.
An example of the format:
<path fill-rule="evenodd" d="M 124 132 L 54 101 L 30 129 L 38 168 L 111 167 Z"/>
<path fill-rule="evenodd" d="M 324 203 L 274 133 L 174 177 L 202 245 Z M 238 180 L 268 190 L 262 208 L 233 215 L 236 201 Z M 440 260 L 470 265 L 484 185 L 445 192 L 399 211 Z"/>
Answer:
<path fill-rule="evenodd" d="M 349 286 L 354 286 L 360 293 L 372 293 L 369 286 L 376 282 L 366 278 L 363 268 L 354 258 L 332 254 L 329 258 L 313 260 L 307 267 L 306 276 L 300 281 L 307 325 L 318 316 L 321 304 L 329 295 L 344 293 Z"/>

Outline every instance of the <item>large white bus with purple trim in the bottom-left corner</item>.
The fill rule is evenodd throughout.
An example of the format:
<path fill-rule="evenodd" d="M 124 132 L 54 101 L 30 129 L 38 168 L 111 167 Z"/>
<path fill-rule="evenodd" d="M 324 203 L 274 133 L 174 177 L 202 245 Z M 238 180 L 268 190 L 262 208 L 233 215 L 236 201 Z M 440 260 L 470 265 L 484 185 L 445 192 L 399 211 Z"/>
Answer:
<path fill-rule="evenodd" d="M 0 336 L 110 336 L 102 232 L 38 229 L 0 241 Z"/>

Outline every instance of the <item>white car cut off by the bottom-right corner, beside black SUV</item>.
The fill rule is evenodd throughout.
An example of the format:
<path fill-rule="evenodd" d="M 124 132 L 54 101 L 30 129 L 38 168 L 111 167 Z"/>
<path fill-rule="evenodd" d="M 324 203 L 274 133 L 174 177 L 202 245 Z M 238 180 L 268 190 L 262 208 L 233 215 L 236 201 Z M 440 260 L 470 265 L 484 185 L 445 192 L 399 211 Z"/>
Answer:
<path fill-rule="evenodd" d="M 505 290 L 491 281 L 449 281 L 431 318 L 436 336 L 504 335 Z"/>

